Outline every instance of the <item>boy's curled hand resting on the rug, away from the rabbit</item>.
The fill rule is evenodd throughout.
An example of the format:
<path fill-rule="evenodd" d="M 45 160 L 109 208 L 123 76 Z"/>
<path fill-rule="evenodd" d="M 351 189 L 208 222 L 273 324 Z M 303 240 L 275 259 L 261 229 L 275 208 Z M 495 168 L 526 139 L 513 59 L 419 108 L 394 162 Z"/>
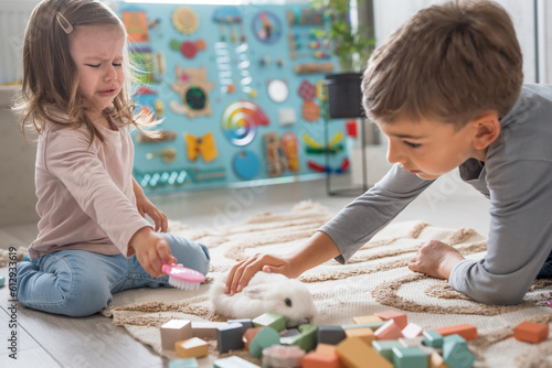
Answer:
<path fill-rule="evenodd" d="M 411 259 L 408 269 L 432 278 L 448 280 L 454 267 L 464 257 L 455 248 L 438 240 L 431 240 Z"/>

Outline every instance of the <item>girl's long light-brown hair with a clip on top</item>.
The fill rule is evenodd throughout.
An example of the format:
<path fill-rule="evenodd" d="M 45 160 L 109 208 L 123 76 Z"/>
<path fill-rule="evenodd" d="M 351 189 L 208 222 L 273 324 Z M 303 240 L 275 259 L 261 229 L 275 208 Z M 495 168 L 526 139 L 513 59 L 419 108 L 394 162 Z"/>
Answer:
<path fill-rule="evenodd" d="M 61 15 L 61 17 L 60 17 Z M 61 20 L 59 20 L 61 18 Z M 79 25 L 113 24 L 126 30 L 119 18 L 97 0 L 43 0 L 34 8 L 26 25 L 23 43 L 23 86 L 15 99 L 13 110 L 21 117 L 21 131 L 42 132 L 46 121 L 70 125 L 73 128 L 86 125 L 94 138 L 105 142 L 103 134 L 86 116 L 83 96 L 78 90 L 78 71 L 70 54 L 70 28 Z M 71 33 L 71 32 L 70 32 Z M 103 115 L 120 126 L 139 127 L 145 117 L 135 117 L 135 104 L 130 97 L 130 62 L 124 47 L 124 71 L 127 82 Z M 60 120 L 49 107 L 56 106 L 68 116 Z"/>

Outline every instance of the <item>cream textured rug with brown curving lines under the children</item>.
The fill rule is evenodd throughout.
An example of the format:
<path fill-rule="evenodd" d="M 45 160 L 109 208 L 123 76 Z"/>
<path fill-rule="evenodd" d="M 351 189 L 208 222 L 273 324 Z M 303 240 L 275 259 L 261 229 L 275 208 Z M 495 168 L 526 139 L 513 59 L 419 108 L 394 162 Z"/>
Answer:
<path fill-rule="evenodd" d="M 115 295 L 106 316 L 161 356 L 176 358 L 161 349 L 159 326 L 172 318 L 225 321 L 212 311 L 208 299 L 213 278 L 236 261 L 257 252 L 284 255 L 300 247 L 331 217 L 316 203 L 302 202 L 285 214 L 259 214 L 245 223 L 222 228 L 191 229 L 171 224 L 170 231 L 203 242 L 211 250 L 212 267 L 199 291 L 140 289 Z M 406 268 L 411 256 L 426 241 L 438 239 L 456 247 L 469 259 L 480 259 L 485 238 L 469 228 L 446 229 L 423 221 L 388 226 L 346 266 L 329 261 L 300 277 L 318 307 L 318 325 L 351 324 L 353 316 L 397 310 L 408 321 L 426 329 L 469 323 L 478 327 L 479 339 L 470 342 L 476 367 L 552 367 L 552 339 L 532 345 L 513 339 L 512 328 L 522 321 L 552 323 L 552 281 L 533 283 L 524 301 L 512 306 L 490 306 L 470 301 L 448 283 L 413 273 Z M 247 356 L 242 357 L 259 365 Z M 224 355 L 226 356 L 226 355 Z M 222 356 L 216 343 L 211 355 L 199 359 L 202 367 Z"/>

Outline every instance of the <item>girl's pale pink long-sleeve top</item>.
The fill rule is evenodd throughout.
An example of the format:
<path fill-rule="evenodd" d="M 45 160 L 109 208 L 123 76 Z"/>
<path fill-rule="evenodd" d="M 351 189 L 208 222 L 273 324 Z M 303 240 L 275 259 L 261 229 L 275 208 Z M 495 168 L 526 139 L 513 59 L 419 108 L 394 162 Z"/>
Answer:
<path fill-rule="evenodd" d="M 34 177 L 40 221 L 31 259 L 62 249 L 130 257 L 130 238 L 151 226 L 136 208 L 128 127 L 97 129 L 105 143 L 96 138 L 89 145 L 84 125 L 47 123 L 40 134 Z"/>

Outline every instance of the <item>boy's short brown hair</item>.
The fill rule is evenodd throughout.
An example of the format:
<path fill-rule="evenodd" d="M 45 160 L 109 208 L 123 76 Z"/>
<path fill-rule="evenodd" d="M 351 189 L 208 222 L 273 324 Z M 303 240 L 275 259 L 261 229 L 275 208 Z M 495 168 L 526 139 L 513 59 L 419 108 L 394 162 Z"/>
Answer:
<path fill-rule="evenodd" d="M 523 80 L 510 17 L 491 1 L 450 1 L 421 10 L 368 62 L 369 117 L 383 123 L 422 118 L 458 129 L 486 110 L 503 117 Z"/>

